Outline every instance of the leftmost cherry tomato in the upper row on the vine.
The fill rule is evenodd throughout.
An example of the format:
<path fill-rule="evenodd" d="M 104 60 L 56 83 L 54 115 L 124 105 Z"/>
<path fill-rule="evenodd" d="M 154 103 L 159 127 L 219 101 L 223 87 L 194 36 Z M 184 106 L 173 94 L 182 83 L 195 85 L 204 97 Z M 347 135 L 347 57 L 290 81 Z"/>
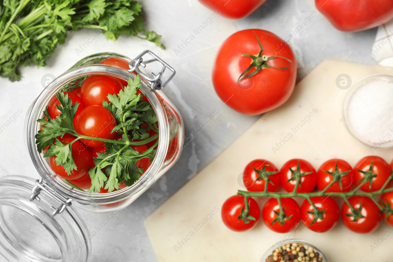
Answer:
<path fill-rule="evenodd" d="M 256 169 L 256 170 L 255 170 Z M 268 192 L 274 192 L 280 185 L 280 172 L 275 165 L 264 159 L 255 159 L 246 165 L 243 183 L 248 191 L 264 191 L 268 178 Z"/>

